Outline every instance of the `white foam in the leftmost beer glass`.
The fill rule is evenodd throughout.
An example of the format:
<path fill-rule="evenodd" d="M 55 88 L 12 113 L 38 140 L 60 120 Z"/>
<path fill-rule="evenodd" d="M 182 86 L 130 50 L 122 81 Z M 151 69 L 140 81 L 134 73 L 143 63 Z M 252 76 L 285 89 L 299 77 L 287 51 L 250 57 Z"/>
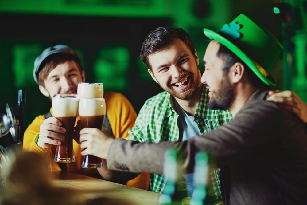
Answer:
<path fill-rule="evenodd" d="M 72 96 L 72 97 L 68 97 Z M 79 99 L 76 95 L 55 95 L 52 98 L 52 111 L 55 117 L 77 116 Z"/>

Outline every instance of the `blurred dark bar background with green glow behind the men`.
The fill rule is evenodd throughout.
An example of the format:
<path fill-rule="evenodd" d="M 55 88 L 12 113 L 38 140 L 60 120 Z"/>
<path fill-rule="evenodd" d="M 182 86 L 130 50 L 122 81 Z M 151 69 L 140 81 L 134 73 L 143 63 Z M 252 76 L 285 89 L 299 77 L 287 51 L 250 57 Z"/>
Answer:
<path fill-rule="evenodd" d="M 0 0 L 0 113 L 6 113 L 6 103 L 17 112 L 20 88 L 26 90 L 25 127 L 49 111 L 49 99 L 33 80 L 33 63 L 43 49 L 56 44 L 77 50 L 87 82 L 102 82 L 105 92 L 123 93 L 138 112 L 147 98 L 161 91 L 138 58 L 141 42 L 151 30 L 182 27 L 201 59 L 209 42 L 202 29 L 217 31 L 240 13 L 263 23 L 285 47 L 271 71 L 276 89 L 292 89 L 307 102 L 306 2 Z M 276 3 L 280 14 L 273 12 Z"/>

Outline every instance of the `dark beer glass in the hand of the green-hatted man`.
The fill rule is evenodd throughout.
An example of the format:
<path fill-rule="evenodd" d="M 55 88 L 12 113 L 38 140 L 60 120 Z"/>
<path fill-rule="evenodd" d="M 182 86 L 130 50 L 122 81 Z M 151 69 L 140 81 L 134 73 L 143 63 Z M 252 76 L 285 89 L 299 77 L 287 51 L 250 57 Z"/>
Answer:
<path fill-rule="evenodd" d="M 79 99 L 79 116 L 81 129 L 98 128 L 102 129 L 103 120 L 106 115 L 106 102 L 103 98 L 82 98 Z M 99 157 L 86 155 L 82 161 L 83 168 L 103 167 Z"/>

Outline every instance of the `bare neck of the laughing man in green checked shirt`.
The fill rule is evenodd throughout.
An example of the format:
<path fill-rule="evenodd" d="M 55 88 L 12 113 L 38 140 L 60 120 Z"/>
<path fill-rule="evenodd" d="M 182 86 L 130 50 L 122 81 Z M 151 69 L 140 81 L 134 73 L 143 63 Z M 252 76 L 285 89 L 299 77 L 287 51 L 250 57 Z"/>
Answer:
<path fill-rule="evenodd" d="M 192 97 L 190 97 L 187 100 L 181 100 L 177 97 L 174 97 L 176 101 L 178 102 L 179 106 L 188 113 L 189 116 L 194 116 L 197 106 L 200 101 L 201 93 L 203 90 L 203 85 L 200 85 L 198 88 L 196 88 L 195 93 Z"/>

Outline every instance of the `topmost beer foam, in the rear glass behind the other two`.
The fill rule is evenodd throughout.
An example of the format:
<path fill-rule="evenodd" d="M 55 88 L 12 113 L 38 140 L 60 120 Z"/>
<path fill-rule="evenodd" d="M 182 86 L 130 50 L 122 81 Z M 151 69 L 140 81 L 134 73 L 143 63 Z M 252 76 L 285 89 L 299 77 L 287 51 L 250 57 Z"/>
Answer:
<path fill-rule="evenodd" d="M 102 83 L 79 83 L 78 98 L 103 98 Z"/>

